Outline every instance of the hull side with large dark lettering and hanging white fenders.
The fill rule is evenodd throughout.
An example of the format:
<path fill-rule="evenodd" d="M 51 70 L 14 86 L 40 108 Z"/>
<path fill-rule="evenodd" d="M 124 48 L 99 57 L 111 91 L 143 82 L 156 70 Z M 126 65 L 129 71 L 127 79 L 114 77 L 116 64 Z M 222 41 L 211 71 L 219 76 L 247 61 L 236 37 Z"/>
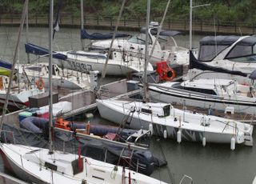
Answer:
<path fill-rule="evenodd" d="M 97 106 L 102 118 L 106 118 L 111 122 L 115 122 L 118 124 L 123 123 L 122 122 L 123 118 L 128 114 L 126 110 L 122 110 L 121 106 L 119 107 L 119 110 L 117 110 L 115 108 L 111 108 L 111 106 L 109 106 L 106 102 L 102 102 L 101 100 L 98 100 Z M 232 133 L 222 133 L 220 131 L 215 131 L 215 132 L 208 131 L 207 127 L 205 131 L 196 130 L 192 128 L 186 129 L 186 126 L 179 126 L 178 120 L 177 122 L 174 122 L 170 119 L 170 122 L 166 120 L 166 123 L 162 124 L 162 123 L 156 123 L 156 120 L 154 120 L 154 118 L 152 117 L 142 118 L 142 116 L 143 116 L 142 113 L 140 114 L 138 113 L 138 111 L 135 111 L 134 114 L 132 115 L 132 119 L 128 126 L 136 130 L 141 128 L 144 130 L 150 130 L 150 124 L 152 124 L 154 135 L 165 137 L 164 134 L 166 131 L 166 138 L 174 138 L 174 139 L 177 138 L 178 130 L 181 130 L 182 140 L 192 141 L 192 142 L 202 142 L 203 138 L 206 138 L 206 142 L 216 142 L 216 143 L 230 143 L 231 138 L 236 138 L 236 143 L 245 142 L 244 134 L 234 135 Z M 188 117 L 187 119 L 191 119 L 191 118 Z"/>

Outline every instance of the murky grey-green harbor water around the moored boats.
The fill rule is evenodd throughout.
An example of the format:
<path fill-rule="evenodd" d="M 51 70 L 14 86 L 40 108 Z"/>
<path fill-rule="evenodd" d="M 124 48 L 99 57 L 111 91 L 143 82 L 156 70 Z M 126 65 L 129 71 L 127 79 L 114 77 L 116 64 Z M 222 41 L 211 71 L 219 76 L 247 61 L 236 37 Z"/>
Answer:
<path fill-rule="evenodd" d="M 111 32 L 111 30 L 88 30 L 93 32 Z M 130 33 L 134 34 L 134 33 Z M 18 27 L 0 27 L 0 58 L 12 62 L 14 48 L 18 37 Z M 198 42 L 203 35 L 193 37 L 193 46 L 198 47 Z M 48 29 L 29 28 L 29 42 L 47 47 Z M 189 35 L 176 38 L 179 46 L 189 46 Z M 22 32 L 22 41 L 19 49 L 19 63 L 27 62 L 24 43 L 26 43 L 26 29 Z M 89 45 L 90 42 L 86 42 Z M 81 49 L 80 30 L 61 28 L 55 34 L 54 50 L 79 50 Z M 30 56 L 30 60 L 36 57 Z M 48 58 L 40 58 L 48 61 Z M 38 61 L 36 61 L 38 62 Z M 117 78 L 106 78 L 107 82 Z M 118 78 L 121 79 L 121 78 Z M 99 115 L 95 115 L 94 122 L 106 122 Z M 254 141 L 255 139 L 254 133 Z M 230 150 L 230 144 L 213 144 L 202 142 L 181 142 L 154 137 L 150 142 L 150 150 L 158 158 L 165 158 L 168 166 L 157 168 L 151 175 L 164 182 L 179 183 L 183 174 L 193 178 L 196 184 L 250 184 L 256 174 L 256 146 L 236 145 L 235 150 Z M 2 160 L 0 171 L 4 171 Z"/>

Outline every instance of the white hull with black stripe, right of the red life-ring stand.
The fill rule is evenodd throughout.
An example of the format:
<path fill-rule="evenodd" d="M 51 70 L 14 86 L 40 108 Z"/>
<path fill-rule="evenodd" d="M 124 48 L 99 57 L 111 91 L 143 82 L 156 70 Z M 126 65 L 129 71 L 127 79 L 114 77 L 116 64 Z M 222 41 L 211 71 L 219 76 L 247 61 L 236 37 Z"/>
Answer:
<path fill-rule="evenodd" d="M 227 106 L 234 107 L 234 112 L 255 114 L 255 98 L 218 98 L 214 95 L 196 94 L 174 88 L 149 86 L 150 97 L 162 102 L 175 102 L 184 106 L 196 106 L 204 109 L 225 110 Z"/>

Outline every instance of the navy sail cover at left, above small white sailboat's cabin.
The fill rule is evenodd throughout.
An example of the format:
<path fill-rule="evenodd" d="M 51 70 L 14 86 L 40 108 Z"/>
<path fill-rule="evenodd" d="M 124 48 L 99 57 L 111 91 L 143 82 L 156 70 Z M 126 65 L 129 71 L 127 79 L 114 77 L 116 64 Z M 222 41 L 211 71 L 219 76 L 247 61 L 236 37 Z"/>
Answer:
<path fill-rule="evenodd" d="M 35 55 L 45 55 L 45 56 L 49 56 L 49 50 L 46 48 L 43 48 L 42 46 L 36 46 L 32 43 L 26 43 L 25 44 L 25 50 L 26 53 L 30 53 L 30 54 L 35 54 Z M 64 54 L 59 54 L 57 52 L 53 52 L 53 58 L 57 58 L 57 59 L 62 59 L 62 60 L 66 60 L 67 56 Z"/>

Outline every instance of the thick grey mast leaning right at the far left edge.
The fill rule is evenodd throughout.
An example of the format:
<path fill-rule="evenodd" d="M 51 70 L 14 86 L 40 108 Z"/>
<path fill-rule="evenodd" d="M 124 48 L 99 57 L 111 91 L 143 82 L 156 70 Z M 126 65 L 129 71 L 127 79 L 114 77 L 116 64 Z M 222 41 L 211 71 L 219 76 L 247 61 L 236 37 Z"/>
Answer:
<path fill-rule="evenodd" d="M 7 110 L 7 105 L 8 105 L 8 101 L 9 101 L 9 95 L 10 95 L 10 86 L 11 86 L 11 83 L 12 83 L 12 79 L 14 78 L 14 67 L 15 67 L 16 62 L 17 62 L 16 58 L 17 58 L 17 54 L 18 54 L 18 46 L 19 46 L 19 42 L 21 40 L 23 25 L 24 25 L 25 18 L 26 18 L 26 8 L 27 8 L 28 2 L 29 1 L 26 0 L 24 2 L 24 6 L 23 6 L 22 20 L 21 20 L 21 24 L 20 24 L 19 29 L 18 29 L 18 39 L 17 39 L 17 44 L 16 44 L 15 52 L 14 52 L 13 66 L 12 66 L 11 72 L 10 72 L 8 90 L 7 90 L 7 93 L 6 93 L 6 101 L 5 101 L 4 106 L 2 107 L 2 118 L 1 118 L 1 123 L 0 123 L 0 130 L 2 130 L 3 119 L 5 118 L 5 115 L 6 115 L 6 110 Z"/>

